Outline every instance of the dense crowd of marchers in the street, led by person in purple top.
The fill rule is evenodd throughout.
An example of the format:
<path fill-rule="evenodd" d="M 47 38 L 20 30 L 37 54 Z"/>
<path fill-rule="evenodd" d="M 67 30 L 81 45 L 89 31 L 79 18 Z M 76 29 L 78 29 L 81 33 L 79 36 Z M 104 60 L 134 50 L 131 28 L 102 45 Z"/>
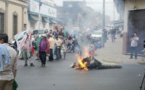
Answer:
<path fill-rule="evenodd" d="M 47 34 L 37 35 L 35 39 L 28 35 L 21 53 L 25 60 L 24 66 L 28 66 L 28 60 L 30 66 L 34 66 L 34 60 L 30 58 L 35 54 L 42 67 L 46 65 L 47 57 L 48 61 L 65 59 L 67 52 L 74 52 L 75 45 L 75 38 L 62 29 L 50 30 Z"/>

